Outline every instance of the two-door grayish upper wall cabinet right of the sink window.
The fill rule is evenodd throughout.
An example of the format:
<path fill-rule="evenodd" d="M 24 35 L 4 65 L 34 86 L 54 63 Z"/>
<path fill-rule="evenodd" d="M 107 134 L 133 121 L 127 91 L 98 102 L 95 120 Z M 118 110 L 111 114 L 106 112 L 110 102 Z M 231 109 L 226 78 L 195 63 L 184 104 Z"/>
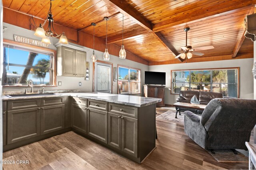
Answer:
<path fill-rule="evenodd" d="M 85 77 L 86 52 L 68 47 L 57 48 L 57 76 Z"/>

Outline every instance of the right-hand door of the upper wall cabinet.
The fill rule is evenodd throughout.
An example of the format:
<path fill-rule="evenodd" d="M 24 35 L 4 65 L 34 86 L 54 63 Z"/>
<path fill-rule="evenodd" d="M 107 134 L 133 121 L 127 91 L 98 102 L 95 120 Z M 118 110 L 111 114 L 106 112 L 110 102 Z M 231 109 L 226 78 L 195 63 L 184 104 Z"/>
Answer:
<path fill-rule="evenodd" d="M 85 77 L 86 74 L 86 53 L 76 50 L 76 76 Z"/>

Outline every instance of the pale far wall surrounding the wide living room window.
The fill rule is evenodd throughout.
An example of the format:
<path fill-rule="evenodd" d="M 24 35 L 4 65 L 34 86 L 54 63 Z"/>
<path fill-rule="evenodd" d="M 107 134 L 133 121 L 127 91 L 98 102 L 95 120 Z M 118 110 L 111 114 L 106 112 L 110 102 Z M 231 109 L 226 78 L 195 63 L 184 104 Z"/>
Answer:
<path fill-rule="evenodd" d="M 254 58 L 256 58 L 255 55 Z M 168 88 L 171 87 L 171 70 L 240 67 L 240 98 L 253 99 L 254 96 L 256 96 L 255 92 L 253 91 L 253 88 L 256 88 L 256 81 L 254 80 L 253 85 L 252 66 L 253 59 L 234 59 L 224 61 L 208 61 L 200 63 L 155 65 L 149 66 L 149 71 L 166 72 L 166 88 L 164 94 L 164 103 L 174 104 L 176 102 L 176 98 L 178 98 L 178 95 L 170 94 L 170 90 L 168 90 Z"/>

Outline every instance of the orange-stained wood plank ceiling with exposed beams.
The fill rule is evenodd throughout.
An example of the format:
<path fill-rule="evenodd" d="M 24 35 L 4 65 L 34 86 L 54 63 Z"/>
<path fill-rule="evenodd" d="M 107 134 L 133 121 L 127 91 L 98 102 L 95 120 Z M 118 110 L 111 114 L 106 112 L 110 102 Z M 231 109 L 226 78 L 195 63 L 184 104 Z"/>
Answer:
<path fill-rule="evenodd" d="M 39 18 L 46 18 L 50 0 L 3 0 L 5 8 Z M 54 23 L 105 38 L 149 62 L 172 61 L 184 46 L 190 27 L 188 45 L 193 48 L 213 45 L 200 51 L 212 57 L 252 53 L 253 42 L 243 39 L 244 18 L 254 12 L 256 0 L 54 0 Z M 240 45 L 239 45 L 239 41 Z M 242 45 L 241 45 L 242 44 Z M 241 47 L 240 47 L 241 46 Z M 193 58 L 199 56 L 194 55 Z"/>

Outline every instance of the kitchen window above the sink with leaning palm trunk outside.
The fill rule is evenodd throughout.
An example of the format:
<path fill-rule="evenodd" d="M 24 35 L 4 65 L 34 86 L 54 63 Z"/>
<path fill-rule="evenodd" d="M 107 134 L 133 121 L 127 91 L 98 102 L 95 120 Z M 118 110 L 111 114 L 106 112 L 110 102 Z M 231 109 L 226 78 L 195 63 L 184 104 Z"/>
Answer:
<path fill-rule="evenodd" d="M 3 85 L 27 86 L 28 80 L 52 85 L 52 60 L 53 54 L 4 44 Z"/>

